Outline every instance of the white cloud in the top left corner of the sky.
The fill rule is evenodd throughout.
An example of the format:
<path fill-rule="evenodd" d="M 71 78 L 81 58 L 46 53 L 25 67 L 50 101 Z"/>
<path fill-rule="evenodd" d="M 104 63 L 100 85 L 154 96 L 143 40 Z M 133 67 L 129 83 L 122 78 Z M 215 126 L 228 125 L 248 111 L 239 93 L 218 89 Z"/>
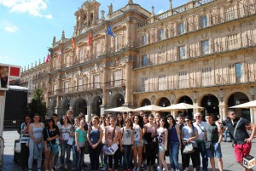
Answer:
<path fill-rule="evenodd" d="M 48 0 L 0 0 L 0 4 L 9 8 L 10 12 L 28 13 L 36 17 L 52 19 L 51 14 L 43 14 Z"/>

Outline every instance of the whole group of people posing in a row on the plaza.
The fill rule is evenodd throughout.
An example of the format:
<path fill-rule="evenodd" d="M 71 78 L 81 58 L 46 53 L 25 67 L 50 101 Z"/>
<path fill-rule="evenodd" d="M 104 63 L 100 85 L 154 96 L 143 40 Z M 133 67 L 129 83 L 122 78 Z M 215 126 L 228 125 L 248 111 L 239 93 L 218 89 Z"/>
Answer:
<path fill-rule="evenodd" d="M 58 115 L 47 118 L 40 123 L 40 117 L 35 114 L 33 122 L 26 117 L 21 125 L 22 168 L 32 170 L 33 159 L 37 159 L 37 168 L 41 170 L 42 154 L 44 151 L 44 169 L 67 169 L 73 151 L 73 170 L 82 170 L 84 153 L 90 156 L 90 170 L 118 170 L 122 165 L 125 171 L 138 171 L 143 168 L 154 170 L 189 170 L 191 158 L 193 169 L 207 170 L 208 158 L 212 170 L 216 170 L 214 158 L 217 158 L 218 169 L 223 170 L 221 142 L 223 126 L 228 127 L 232 139 L 235 140 L 236 161 L 242 166 L 242 157 L 249 154 L 251 141 L 255 134 L 255 124 L 244 118 L 236 117 L 235 111 L 228 112 L 229 119 L 213 121 L 207 114 L 202 121 L 201 113 L 195 113 L 194 119 L 179 114 L 177 122 L 172 115 L 166 117 L 160 113 L 145 114 L 140 111 L 134 114 L 113 113 L 92 116 L 90 123 L 85 122 L 84 114 L 73 119 L 73 111 L 67 111 L 58 122 Z M 195 120 L 195 122 L 193 122 Z M 251 126 L 252 134 L 247 134 L 246 126 Z M 59 155 L 53 152 L 52 145 L 60 145 L 61 166 L 57 165 Z M 113 145 L 118 148 L 112 155 L 106 154 L 105 149 Z M 189 146 L 192 150 L 188 152 Z M 178 165 L 178 153 L 181 151 L 182 167 Z M 86 155 L 85 154 L 85 155 Z M 65 158 L 66 156 L 66 158 Z M 166 164 L 169 156 L 170 168 Z M 201 156 L 201 157 L 200 157 Z M 201 166 L 202 164 L 202 166 Z M 244 170 L 252 170 L 244 168 Z"/>

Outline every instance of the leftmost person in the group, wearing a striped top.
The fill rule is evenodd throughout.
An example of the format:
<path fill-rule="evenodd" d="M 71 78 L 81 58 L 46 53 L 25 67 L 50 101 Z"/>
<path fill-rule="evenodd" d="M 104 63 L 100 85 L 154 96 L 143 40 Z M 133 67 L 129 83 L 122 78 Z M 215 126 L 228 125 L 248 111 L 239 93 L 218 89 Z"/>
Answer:
<path fill-rule="evenodd" d="M 31 123 L 31 118 L 29 116 L 26 116 L 24 118 L 24 123 L 20 125 L 20 145 L 21 145 L 21 151 L 20 151 L 20 166 L 24 170 L 27 168 L 27 161 L 29 157 L 29 149 L 26 146 L 26 142 L 29 140 L 29 125 Z"/>

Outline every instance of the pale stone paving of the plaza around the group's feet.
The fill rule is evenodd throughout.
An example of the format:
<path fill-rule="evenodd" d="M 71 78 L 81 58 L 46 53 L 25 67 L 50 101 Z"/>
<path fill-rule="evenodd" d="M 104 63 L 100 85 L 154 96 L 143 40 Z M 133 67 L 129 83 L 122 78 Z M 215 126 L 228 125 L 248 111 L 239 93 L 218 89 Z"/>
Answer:
<path fill-rule="evenodd" d="M 5 140 L 5 147 L 4 147 L 4 157 L 3 157 L 3 170 L 4 171 L 22 171 L 19 164 L 14 162 L 14 146 L 15 146 L 15 140 L 19 139 L 19 134 L 14 129 L 4 129 L 3 131 L 3 139 Z M 235 161 L 235 155 L 233 152 L 233 148 L 231 147 L 230 142 L 223 142 L 221 144 L 222 152 L 223 152 L 223 161 L 224 161 L 224 171 L 240 171 L 242 170 L 241 166 L 236 163 Z M 256 139 L 253 139 L 253 148 L 251 151 L 251 155 L 256 157 Z M 72 156 L 72 155 L 71 155 Z M 84 171 L 90 170 L 90 160 L 89 156 L 86 155 L 85 162 L 88 164 L 86 168 L 83 168 Z M 166 162 L 169 163 L 169 158 L 166 158 Z M 181 157 L 179 157 L 179 163 L 181 163 Z M 190 161 L 191 164 L 191 161 Z M 43 165 L 42 165 L 43 166 Z M 218 168 L 218 164 L 216 162 L 216 166 Z M 211 164 L 209 163 L 209 169 L 212 170 Z M 65 170 L 65 169 L 60 169 Z M 66 169 L 71 170 L 71 169 Z M 121 169 L 119 169 L 121 170 Z M 190 165 L 190 169 L 191 168 Z M 253 170 L 256 170 L 254 167 Z"/>

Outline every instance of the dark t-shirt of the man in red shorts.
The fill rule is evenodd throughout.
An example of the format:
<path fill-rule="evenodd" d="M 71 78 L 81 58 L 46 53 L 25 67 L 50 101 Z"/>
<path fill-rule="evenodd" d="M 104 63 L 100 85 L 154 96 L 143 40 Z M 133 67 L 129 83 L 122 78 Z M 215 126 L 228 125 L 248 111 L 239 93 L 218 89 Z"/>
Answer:
<path fill-rule="evenodd" d="M 241 121 L 236 128 L 236 123 L 240 118 Z M 236 117 L 236 119 L 234 120 L 234 125 L 230 120 L 224 120 L 222 123 L 224 124 L 224 126 L 227 126 L 229 128 L 231 137 L 235 140 L 236 144 L 242 145 L 244 144 L 244 140 L 250 137 L 246 129 L 246 126 L 250 124 L 250 122 L 247 119 L 242 117 Z M 235 128 L 236 137 L 234 137 Z"/>

